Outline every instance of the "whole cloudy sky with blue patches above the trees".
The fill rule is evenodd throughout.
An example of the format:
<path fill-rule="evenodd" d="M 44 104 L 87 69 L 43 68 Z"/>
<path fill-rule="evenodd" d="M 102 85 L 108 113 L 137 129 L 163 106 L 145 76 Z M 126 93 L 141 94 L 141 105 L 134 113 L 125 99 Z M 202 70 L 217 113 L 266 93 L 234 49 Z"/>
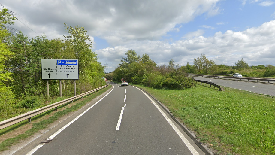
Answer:
<path fill-rule="evenodd" d="M 82 26 L 101 65 L 113 71 L 125 51 L 180 66 L 205 54 L 217 65 L 275 65 L 275 0 L 2 0 L 29 38 L 63 38 Z M 105 70 L 106 71 L 106 70 Z"/>

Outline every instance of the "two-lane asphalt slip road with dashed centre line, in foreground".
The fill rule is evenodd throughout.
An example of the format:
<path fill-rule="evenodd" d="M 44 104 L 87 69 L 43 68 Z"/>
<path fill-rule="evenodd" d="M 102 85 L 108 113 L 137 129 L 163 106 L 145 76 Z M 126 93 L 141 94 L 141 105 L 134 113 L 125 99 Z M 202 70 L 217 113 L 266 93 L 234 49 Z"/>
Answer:
<path fill-rule="evenodd" d="M 44 138 L 50 141 L 48 144 L 33 142 L 15 154 L 204 154 L 141 90 L 110 84 L 113 90 L 108 90 L 104 98 L 47 132 Z"/>

